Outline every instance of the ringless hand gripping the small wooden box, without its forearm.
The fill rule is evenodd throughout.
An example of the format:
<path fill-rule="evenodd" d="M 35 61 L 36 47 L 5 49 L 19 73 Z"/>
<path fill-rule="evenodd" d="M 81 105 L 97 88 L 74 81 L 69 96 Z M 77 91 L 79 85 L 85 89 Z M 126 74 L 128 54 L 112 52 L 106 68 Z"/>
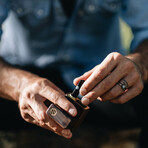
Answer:
<path fill-rule="evenodd" d="M 72 133 L 69 129 L 63 129 L 46 114 L 47 107 L 44 104 L 46 99 L 60 106 L 71 116 L 76 116 L 77 110 L 65 98 L 64 92 L 49 80 L 37 77 L 31 79 L 21 89 L 19 109 L 22 118 L 65 138 L 71 138 Z"/>

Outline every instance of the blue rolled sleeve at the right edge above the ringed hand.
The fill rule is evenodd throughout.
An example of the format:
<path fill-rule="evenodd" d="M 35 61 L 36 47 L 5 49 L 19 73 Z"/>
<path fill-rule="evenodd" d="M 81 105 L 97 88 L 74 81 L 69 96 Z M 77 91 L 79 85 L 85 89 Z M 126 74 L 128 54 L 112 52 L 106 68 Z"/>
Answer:
<path fill-rule="evenodd" d="M 122 18 L 131 27 L 133 40 L 131 52 L 145 39 L 148 38 L 148 2 L 147 0 L 125 0 Z"/>

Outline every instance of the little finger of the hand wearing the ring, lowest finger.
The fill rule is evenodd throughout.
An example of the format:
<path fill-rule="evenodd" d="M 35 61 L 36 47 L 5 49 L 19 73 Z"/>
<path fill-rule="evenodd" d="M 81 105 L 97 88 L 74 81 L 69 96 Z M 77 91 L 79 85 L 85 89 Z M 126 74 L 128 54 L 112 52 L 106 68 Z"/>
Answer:
<path fill-rule="evenodd" d="M 134 87 L 130 88 L 126 93 L 122 94 L 121 96 L 117 97 L 116 99 L 111 100 L 110 102 L 116 104 L 123 104 L 130 99 L 136 97 L 142 92 L 143 83 L 141 81 L 137 83 Z"/>

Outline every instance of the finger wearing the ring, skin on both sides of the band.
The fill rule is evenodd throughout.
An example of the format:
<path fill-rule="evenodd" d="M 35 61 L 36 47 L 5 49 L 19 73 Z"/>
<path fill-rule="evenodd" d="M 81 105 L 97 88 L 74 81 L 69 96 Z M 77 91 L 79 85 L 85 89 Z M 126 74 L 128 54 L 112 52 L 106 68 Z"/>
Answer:
<path fill-rule="evenodd" d="M 122 78 L 122 79 L 128 83 L 128 88 L 130 88 L 133 85 L 135 85 L 135 83 L 137 83 L 139 81 L 140 74 L 133 71 L 128 76 L 126 76 L 125 78 Z M 119 95 L 121 95 L 123 93 L 124 93 L 124 91 L 121 88 L 121 86 L 116 84 L 113 88 L 111 88 L 108 92 L 106 92 L 105 94 L 103 94 L 101 96 L 101 100 L 102 101 L 112 100 L 114 98 L 117 98 Z"/>

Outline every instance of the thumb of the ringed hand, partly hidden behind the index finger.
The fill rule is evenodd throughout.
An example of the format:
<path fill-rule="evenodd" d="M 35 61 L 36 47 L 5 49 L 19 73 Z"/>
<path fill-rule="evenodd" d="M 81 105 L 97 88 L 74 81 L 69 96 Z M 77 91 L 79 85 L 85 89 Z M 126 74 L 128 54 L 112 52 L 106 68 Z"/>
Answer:
<path fill-rule="evenodd" d="M 77 85 L 80 80 L 88 79 L 88 77 L 93 73 L 96 67 L 97 66 L 95 66 L 93 69 L 89 70 L 88 72 L 85 72 L 82 76 L 75 78 L 73 81 L 74 85 Z"/>

